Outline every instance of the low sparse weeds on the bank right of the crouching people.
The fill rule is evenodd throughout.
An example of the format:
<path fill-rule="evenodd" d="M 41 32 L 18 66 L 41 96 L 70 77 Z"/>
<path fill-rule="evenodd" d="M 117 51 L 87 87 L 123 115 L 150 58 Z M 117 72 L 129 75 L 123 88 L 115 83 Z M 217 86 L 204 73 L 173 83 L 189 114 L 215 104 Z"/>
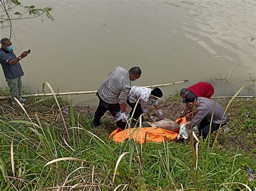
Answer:
<path fill-rule="evenodd" d="M 222 103 L 223 105 L 226 102 Z M 256 155 L 256 101 L 237 99 L 227 110 L 228 126 L 221 132 L 219 144 L 225 148 L 239 148 Z"/>

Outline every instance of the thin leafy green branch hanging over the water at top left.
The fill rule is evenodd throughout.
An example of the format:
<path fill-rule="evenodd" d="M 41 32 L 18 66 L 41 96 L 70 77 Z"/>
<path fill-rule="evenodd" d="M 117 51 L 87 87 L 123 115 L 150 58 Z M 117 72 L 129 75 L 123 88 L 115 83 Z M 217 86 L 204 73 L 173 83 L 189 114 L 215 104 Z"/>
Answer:
<path fill-rule="evenodd" d="M 46 16 L 52 21 L 52 7 L 36 8 L 34 5 L 23 5 L 18 0 L 0 0 L 0 23 L 8 23 L 11 20 L 29 19 L 39 16 Z M 9 23 L 10 24 L 10 23 Z"/>

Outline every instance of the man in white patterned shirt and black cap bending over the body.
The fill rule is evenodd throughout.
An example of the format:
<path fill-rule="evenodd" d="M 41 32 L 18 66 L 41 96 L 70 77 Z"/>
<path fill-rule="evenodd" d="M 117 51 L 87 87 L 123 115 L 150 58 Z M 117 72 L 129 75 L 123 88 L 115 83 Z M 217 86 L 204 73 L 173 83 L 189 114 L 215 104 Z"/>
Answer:
<path fill-rule="evenodd" d="M 146 114 L 150 121 L 153 122 L 153 117 L 149 114 L 149 109 L 147 108 L 147 103 L 149 103 L 151 101 L 151 103 L 153 104 L 154 108 L 156 108 L 158 115 L 163 117 L 163 113 L 160 110 L 157 100 L 158 98 L 163 97 L 163 93 L 161 91 L 160 88 L 156 87 L 153 90 L 150 88 L 145 88 L 145 87 L 139 87 L 139 86 L 132 86 L 131 91 L 128 95 L 128 99 L 127 99 L 127 104 L 130 105 L 130 107 L 132 108 L 131 112 L 130 112 L 130 117 L 132 116 L 133 110 L 134 114 L 133 114 L 133 119 L 138 120 L 140 115 L 142 114 Z M 139 100 L 137 107 L 136 103 Z M 143 117 L 142 117 L 142 121 Z"/>

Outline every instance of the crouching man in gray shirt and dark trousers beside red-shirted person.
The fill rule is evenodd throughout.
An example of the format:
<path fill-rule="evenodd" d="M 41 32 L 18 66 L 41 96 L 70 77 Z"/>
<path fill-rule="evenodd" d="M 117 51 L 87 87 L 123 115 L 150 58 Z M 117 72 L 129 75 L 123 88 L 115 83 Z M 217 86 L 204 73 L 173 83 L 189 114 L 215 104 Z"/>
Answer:
<path fill-rule="evenodd" d="M 213 113 L 212 125 L 211 125 L 211 134 L 214 131 L 217 131 L 220 126 L 226 124 L 227 116 L 225 110 L 221 107 L 218 102 L 205 97 L 197 97 L 195 94 L 190 93 L 185 97 L 185 102 L 188 103 L 190 107 L 197 108 L 196 115 L 192 119 L 192 126 L 199 125 L 199 136 L 202 136 L 204 139 L 207 137 L 210 131 L 211 118 Z M 186 123 L 186 128 L 191 128 L 191 122 Z"/>

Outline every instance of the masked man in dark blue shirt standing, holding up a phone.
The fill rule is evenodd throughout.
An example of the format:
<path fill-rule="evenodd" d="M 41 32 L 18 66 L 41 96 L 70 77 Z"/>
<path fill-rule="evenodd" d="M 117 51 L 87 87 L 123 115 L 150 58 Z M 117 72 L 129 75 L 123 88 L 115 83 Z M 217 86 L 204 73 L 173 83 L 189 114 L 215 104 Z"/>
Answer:
<path fill-rule="evenodd" d="M 8 38 L 1 39 L 1 49 L 0 49 L 0 63 L 3 67 L 4 76 L 7 81 L 7 84 L 10 88 L 10 95 L 12 105 L 17 107 L 17 104 L 14 100 L 16 97 L 22 105 L 25 105 L 25 99 L 21 97 L 22 91 L 22 81 L 21 76 L 24 75 L 22 67 L 19 61 L 25 58 L 29 52 L 23 52 L 18 58 L 14 54 L 12 43 Z"/>

